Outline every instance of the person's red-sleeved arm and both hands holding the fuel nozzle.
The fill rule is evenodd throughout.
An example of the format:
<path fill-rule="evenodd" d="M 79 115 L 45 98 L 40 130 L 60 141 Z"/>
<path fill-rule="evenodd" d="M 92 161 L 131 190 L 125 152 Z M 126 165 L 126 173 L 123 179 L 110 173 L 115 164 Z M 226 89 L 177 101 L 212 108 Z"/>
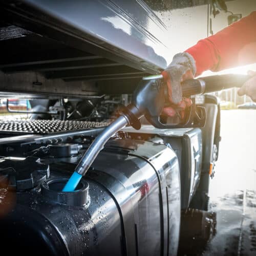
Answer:
<path fill-rule="evenodd" d="M 179 92 L 182 81 L 198 76 L 206 70 L 219 71 L 253 62 L 256 62 L 256 11 L 215 35 L 200 40 L 184 53 L 174 56 L 172 63 L 162 72 L 168 88 L 169 101 L 173 104 L 173 107 L 165 108 L 163 113 L 174 116 L 177 107 L 185 109 L 191 104 L 181 100 L 182 95 Z M 255 84 L 256 76 L 252 79 L 255 81 L 245 83 L 239 94 L 247 94 L 256 101 L 256 89 L 251 85 Z"/>

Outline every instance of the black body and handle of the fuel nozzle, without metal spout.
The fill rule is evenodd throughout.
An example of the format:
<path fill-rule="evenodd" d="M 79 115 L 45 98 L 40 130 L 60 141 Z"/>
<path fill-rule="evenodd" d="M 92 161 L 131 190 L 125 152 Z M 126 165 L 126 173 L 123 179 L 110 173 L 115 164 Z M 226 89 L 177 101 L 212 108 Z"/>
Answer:
<path fill-rule="evenodd" d="M 142 79 L 133 94 L 133 104 L 143 112 L 148 122 L 160 129 L 185 127 L 203 127 L 205 124 L 205 109 L 193 104 L 185 117 L 179 123 L 163 123 L 161 112 L 168 105 L 167 87 L 162 81 L 162 75 L 148 76 Z M 247 75 L 226 74 L 189 79 L 182 82 L 183 97 L 218 92 L 223 89 L 241 87 L 249 79 Z M 136 128 L 136 127 L 135 127 Z"/>

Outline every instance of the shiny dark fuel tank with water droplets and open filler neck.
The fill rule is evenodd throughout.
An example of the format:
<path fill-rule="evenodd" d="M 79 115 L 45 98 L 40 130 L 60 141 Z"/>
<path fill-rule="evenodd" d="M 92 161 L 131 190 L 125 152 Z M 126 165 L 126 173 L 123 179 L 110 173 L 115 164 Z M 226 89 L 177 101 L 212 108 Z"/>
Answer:
<path fill-rule="evenodd" d="M 41 160 L 50 165 L 50 177 L 41 185 L 17 193 L 2 188 L 5 198 L 11 198 L 1 202 L 2 248 L 8 249 L 12 240 L 16 244 L 12 252 L 27 254 L 177 253 L 180 181 L 172 149 L 152 142 L 112 140 L 75 193 L 62 193 L 61 186 L 78 160 Z M 4 207 L 10 201 L 12 206 Z"/>

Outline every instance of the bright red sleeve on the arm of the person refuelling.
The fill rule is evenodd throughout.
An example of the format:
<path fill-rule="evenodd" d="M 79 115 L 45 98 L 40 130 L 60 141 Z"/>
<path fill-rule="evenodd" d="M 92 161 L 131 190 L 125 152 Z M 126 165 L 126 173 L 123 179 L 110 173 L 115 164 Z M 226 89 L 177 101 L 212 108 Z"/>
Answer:
<path fill-rule="evenodd" d="M 185 52 L 196 61 L 196 75 L 256 62 L 256 11 Z"/>

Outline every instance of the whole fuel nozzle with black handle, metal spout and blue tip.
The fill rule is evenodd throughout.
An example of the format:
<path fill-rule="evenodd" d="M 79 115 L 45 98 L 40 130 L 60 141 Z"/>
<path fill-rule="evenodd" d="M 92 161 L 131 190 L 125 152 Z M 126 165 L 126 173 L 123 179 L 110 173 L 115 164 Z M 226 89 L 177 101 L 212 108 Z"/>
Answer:
<path fill-rule="evenodd" d="M 166 86 L 162 78 L 162 75 L 157 75 L 145 77 L 140 81 L 133 94 L 132 103 L 95 138 L 62 191 L 74 191 L 81 177 L 86 174 L 105 143 L 126 125 L 132 125 L 135 129 L 140 129 L 139 119 L 142 116 L 145 116 L 155 127 L 161 129 L 204 126 L 205 110 L 202 106 L 196 106 L 195 102 L 190 107 L 185 119 L 180 123 L 161 122 L 160 115 L 167 103 Z M 231 74 L 191 79 L 182 83 L 182 92 L 184 97 L 217 92 L 222 89 L 241 87 L 247 79 L 248 76 L 245 75 Z"/>

